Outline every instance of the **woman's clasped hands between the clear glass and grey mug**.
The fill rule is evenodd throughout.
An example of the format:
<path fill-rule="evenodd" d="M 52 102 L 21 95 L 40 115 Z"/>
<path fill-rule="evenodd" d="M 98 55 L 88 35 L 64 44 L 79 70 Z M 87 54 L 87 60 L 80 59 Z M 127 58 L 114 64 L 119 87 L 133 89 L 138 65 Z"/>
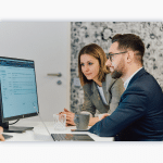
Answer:
<path fill-rule="evenodd" d="M 67 109 L 64 109 L 64 112 L 61 112 L 60 114 L 66 114 L 66 126 L 67 125 L 75 126 L 75 123 L 74 123 L 75 113 L 70 112 Z"/>

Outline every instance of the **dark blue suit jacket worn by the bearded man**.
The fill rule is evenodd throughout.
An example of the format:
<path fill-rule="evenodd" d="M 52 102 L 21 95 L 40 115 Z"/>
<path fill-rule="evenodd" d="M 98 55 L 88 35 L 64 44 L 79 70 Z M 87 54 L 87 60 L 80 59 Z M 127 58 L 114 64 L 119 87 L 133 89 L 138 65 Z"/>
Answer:
<path fill-rule="evenodd" d="M 129 82 L 116 110 L 89 131 L 120 141 L 163 140 L 163 92 L 154 77 L 141 68 Z"/>

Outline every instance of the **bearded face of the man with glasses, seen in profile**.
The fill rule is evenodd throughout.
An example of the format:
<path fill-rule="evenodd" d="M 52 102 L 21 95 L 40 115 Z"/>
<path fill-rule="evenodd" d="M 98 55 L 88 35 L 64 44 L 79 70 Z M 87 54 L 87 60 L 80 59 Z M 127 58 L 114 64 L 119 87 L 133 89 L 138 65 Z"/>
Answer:
<path fill-rule="evenodd" d="M 108 59 L 108 61 L 105 62 L 105 65 L 110 68 L 112 78 L 123 77 L 126 67 L 125 60 L 124 60 L 125 53 L 121 53 L 122 51 L 118 50 L 117 47 L 118 47 L 118 42 L 114 42 L 111 45 L 109 53 L 113 54 L 112 61 Z M 114 55 L 114 53 L 120 53 L 120 54 Z"/>

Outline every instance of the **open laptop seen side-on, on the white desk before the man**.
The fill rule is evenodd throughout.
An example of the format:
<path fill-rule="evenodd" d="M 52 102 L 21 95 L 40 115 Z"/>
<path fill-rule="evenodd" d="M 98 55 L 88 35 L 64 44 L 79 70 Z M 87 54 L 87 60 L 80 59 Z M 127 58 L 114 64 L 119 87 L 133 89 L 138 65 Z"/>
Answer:
<path fill-rule="evenodd" d="M 53 141 L 95 141 L 87 134 L 50 134 L 48 127 L 46 126 L 45 122 L 42 121 L 38 112 L 37 114 L 38 114 L 38 117 L 40 118 L 40 122 L 43 124 L 47 133 L 49 134 L 49 136 L 52 138 Z"/>

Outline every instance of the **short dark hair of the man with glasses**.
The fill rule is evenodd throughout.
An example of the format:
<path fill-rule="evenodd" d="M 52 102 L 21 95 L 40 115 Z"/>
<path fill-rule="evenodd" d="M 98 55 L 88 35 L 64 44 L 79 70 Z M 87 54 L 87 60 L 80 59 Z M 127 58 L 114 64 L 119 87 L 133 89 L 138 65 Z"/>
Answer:
<path fill-rule="evenodd" d="M 118 49 L 120 50 L 127 50 L 130 49 L 136 52 L 137 60 L 143 63 L 142 58 L 145 54 L 145 43 L 142 42 L 141 38 L 139 36 L 136 36 L 134 34 L 116 34 L 112 38 L 113 42 L 118 42 Z"/>

